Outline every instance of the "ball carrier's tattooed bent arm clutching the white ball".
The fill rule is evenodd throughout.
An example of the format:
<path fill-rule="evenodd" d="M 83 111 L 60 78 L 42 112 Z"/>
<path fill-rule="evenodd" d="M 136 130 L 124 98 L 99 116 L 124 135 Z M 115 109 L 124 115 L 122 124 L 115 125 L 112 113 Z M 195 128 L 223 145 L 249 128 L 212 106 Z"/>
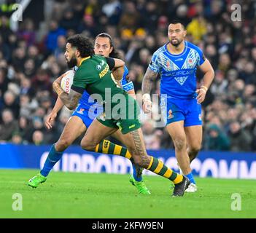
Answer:
<path fill-rule="evenodd" d="M 61 79 L 56 79 L 55 82 L 53 82 L 53 89 L 58 94 L 59 98 L 61 98 L 61 101 L 70 110 L 76 108 L 79 98 L 81 98 L 82 94 L 72 89 L 68 94 L 62 90 L 60 84 L 61 84 Z"/>

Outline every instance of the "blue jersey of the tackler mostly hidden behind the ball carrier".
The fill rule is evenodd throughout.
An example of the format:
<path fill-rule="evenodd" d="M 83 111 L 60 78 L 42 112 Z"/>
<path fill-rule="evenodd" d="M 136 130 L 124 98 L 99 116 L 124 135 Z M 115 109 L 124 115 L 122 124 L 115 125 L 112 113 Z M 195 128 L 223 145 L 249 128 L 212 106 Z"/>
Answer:
<path fill-rule="evenodd" d="M 74 71 L 77 71 L 77 69 L 78 69 L 78 67 L 75 66 Z M 126 92 L 134 89 L 133 82 L 131 82 L 129 80 L 128 73 L 129 73 L 128 68 L 125 66 L 125 71 L 123 73 L 123 78 L 121 80 L 121 84 L 122 84 L 123 90 L 125 90 Z M 96 103 L 96 101 L 93 100 L 93 98 L 90 98 L 90 95 L 86 90 L 83 92 L 81 98 L 79 99 L 78 104 L 85 107 L 86 110 L 89 110 L 90 106 L 93 106 L 93 105 L 94 106 L 97 105 L 97 108 L 102 108 L 102 106 L 100 104 Z"/>

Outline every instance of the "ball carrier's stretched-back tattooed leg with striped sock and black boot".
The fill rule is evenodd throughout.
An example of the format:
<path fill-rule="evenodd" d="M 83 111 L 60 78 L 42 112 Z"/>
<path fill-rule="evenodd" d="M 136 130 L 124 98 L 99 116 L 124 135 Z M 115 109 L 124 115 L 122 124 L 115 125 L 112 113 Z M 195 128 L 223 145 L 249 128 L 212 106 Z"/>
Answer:
<path fill-rule="evenodd" d="M 140 128 L 128 133 L 126 146 L 128 146 L 128 150 L 131 152 L 134 162 L 137 165 L 174 182 L 175 187 L 173 196 L 184 195 L 185 189 L 187 189 L 190 181 L 185 176 L 177 174 L 171 170 L 171 168 L 166 167 L 166 165 L 164 165 L 159 159 L 147 155 Z"/>

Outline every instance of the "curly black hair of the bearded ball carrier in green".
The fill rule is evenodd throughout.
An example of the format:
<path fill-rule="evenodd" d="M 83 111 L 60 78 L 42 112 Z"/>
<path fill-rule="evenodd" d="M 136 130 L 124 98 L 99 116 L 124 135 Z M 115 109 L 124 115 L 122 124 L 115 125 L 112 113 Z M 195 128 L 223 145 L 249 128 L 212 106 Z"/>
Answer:
<path fill-rule="evenodd" d="M 71 47 L 76 47 L 82 58 L 86 58 L 94 54 L 93 44 L 86 36 L 79 34 L 70 36 L 66 42 L 71 44 Z"/>

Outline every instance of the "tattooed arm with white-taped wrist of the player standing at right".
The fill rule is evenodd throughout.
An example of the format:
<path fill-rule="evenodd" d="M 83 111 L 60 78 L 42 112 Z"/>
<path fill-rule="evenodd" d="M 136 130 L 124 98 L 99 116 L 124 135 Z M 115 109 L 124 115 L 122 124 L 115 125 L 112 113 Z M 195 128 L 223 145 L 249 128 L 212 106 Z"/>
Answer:
<path fill-rule="evenodd" d="M 152 90 L 152 82 L 157 79 L 158 73 L 152 71 L 151 68 L 147 68 L 142 80 L 142 101 L 143 101 L 143 111 L 147 114 L 150 113 L 152 102 L 150 98 L 150 92 Z"/>

